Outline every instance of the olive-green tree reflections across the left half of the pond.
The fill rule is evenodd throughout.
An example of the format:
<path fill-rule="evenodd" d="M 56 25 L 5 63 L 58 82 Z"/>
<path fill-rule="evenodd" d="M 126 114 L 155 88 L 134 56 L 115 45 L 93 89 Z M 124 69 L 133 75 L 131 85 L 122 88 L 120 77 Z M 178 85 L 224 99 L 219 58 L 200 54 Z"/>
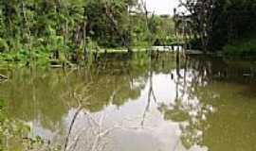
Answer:
<path fill-rule="evenodd" d="M 162 62 L 155 62 L 154 71 L 163 70 Z M 9 72 L 11 79 L 1 84 L 0 92 L 9 101 L 11 117 L 36 121 L 55 131 L 62 127 L 68 110 L 76 107 L 72 93 L 91 96 L 85 106 L 90 111 L 100 111 L 110 104 L 119 107 L 137 99 L 147 82 L 147 73 L 148 61 L 143 56 L 107 60 L 90 69 L 66 73 L 17 69 Z"/>

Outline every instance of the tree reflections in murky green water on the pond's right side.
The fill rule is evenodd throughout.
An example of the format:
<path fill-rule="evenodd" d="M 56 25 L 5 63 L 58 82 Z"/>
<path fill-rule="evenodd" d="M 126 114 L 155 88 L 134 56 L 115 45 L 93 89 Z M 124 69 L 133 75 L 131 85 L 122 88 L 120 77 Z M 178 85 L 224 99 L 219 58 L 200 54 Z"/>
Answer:
<path fill-rule="evenodd" d="M 159 110 L 166 120 L 179 124 L 184 146 L 191 148 L 197 144 L 206 145 L 210 150 L 237 150 L 241 148 L 241 145 L 236 145 L 241 138 L 247 140 L 246 136 L 249 136 L 255 140 L 255 130 L 251 128 L 255 123 L 246 120 L 253 116 L 246 118 L 251 114 L 248 109 L 256 109 L 255 103 L 250 101 L 255 95 L 247 92 L 252 84 L 247 83 L 247 77 L 241 72 L 247 68 L 250 67 L 230 66 L 219 59 L 190 59 L 180 71 L 176 70 L 184 76 L 182 80 L 177 73 L 175 75 L 174 103 L 161 104 Z M 239 113 L 237 119 L 232 119 L 232 113 Z M 240 129 L 239 126 L 246 129 L 243 132 L 234 130 Z M 222 136 L 224 133 L 226 135 Z M 243 148 L 246 150 L 255 149 L 254 143 L 245 144 Z"/>

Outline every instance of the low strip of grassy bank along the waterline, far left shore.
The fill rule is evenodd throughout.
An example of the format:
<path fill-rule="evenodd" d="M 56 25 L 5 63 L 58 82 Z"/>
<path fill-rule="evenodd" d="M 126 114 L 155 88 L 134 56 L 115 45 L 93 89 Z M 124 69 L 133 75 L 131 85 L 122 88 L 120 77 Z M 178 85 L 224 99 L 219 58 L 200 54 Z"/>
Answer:
<path fill-rule="evenodd" d="M 66 58 L 64 54 L 60 54 L 59 58 L 52 58 L 53 53 L 48 51 L 12 51 L 8 53 L 0 53 L 0 68 L 7 67 L 53 67 L 62 68 L 64 64 L 68 67 L 76 67 L 76 65 L 92 65 L 95 63 L 100 63 L 105 60 L 107 56 L 124 55 L 127 57 L 136 57 L 137 60 L 149 59 L 151 57 L 157 58 L 160 52 L 154 51 L 150 56 L 149 50 L 151 47 L 133 47 L 132 53 L 129 53 L 126 48 L 99 48 L 98 50 L 91 49 L 86 53 L 86 58 L 84 54 L 79 54 L 78 60 L 72 59 L 72 52 L 67 54 Z"/>

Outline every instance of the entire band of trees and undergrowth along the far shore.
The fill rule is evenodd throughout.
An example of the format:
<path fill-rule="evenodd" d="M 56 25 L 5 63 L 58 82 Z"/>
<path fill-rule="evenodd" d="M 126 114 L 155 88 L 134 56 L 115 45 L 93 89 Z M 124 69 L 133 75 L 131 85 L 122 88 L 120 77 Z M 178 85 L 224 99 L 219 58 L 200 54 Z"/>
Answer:
<path fill-rule="evenodd" d="M 62 66 L 101 52 L 188 42 L 205 52 L 252 55 L 255 38 L 245 34 L 256 30 L 254 3 L 180 0 L 189 15 L 176 10 L 173 18 L 138 0 L 0 0 L 0 62 Z"/>

